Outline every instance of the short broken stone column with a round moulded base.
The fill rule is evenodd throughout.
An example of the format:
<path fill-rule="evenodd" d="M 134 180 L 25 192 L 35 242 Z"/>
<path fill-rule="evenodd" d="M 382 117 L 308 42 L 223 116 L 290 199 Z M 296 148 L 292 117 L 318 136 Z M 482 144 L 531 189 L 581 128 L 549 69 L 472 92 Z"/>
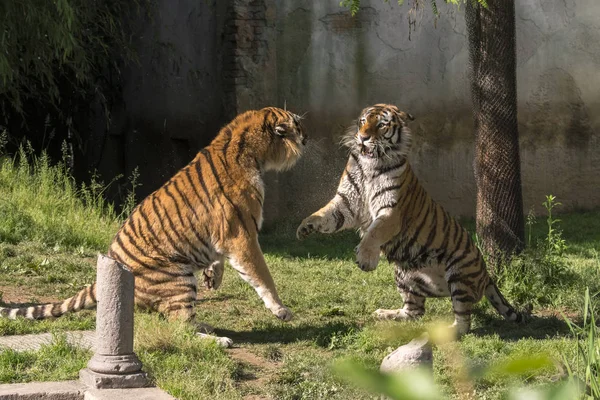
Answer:
<path fill-rule="evenodd" d="M 133 273 L 101 254 L 96 273 L 96 352 L 79 378 L 98 389 L 146 386 L 133 352 Z"/>

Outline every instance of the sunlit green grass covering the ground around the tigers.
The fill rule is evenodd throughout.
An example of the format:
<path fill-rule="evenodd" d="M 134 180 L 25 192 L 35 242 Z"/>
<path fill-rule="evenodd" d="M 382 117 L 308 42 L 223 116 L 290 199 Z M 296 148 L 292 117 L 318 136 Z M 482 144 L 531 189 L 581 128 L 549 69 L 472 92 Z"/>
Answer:
<path fill-rule="evenodd" d="M 34 165 L 4 160 L 0 168 L 0 290 L 3 300 L 35 302 L 64 298 L 94 280 L 97 252 L 105 251 L 119 218 L 102 203 L 99 189 L 77 188 L 64 170 L 43 159 Z M 82 200 L 83 199 L 83 200 Z M 476 308 L 473 331 L 452 346 L 434 350 L 435 379 L 443 393 L 463 398 L 458 365 L 477 368 L 523 354 L 548 354 L 557 366 L 531 376 L 486 375 L 472 382 L 476 398 L 506 398 L 523 384 L 545 385 L 566 374 L 562 365 L 582 368 L 577 341 L 561 312 L 581 320 L 586 287 L 600 289 L 600 212 L 561 216 L 568 244 L 564 255 L 544 257 L 531 250 L 499 276 L 505 296 L 534 305 L 534 318 L 515 325 L 487 304 Z M 465 221 L 471 229 L 471 221 Z M 379 322 L 377 308 L 402 304 L 391 265 L 382 261 L 364 273 L 353 261 L 357 236 L 344 233 L 294 237 L 294 224 L 266 230 L 261 244 L 284 303 L 295 319 L 275 319 L 256 293 L 227 267 L 222 287 L 200 292 L 198 320 L 231 337 L 229 352 L 200 340 L 189 326 L 167 323 L 156 314 L 136 314 L 136 352 L 158 386 L 182 399 L 236 399 L 248 395 L 277 399 L 371 399 L 376 395 L 347 383 L 332 365 L 351 359 L 376 370 L 382 358 L 424 329 L 452 322 L 448 299 L 427 301 L 416 322 Z M 533 242 L 545 237 L 543 218 L 533 226 Z M 54 321 L 0 319 L 0 334 L 56 332 L 54 344 L 38 352 L 0 352 L 0 381 L 73 379 L 89 353 L 68 348 L 60 332 L 93 329 L 94 312 Z M 242 357 L 243 356 L 243 357 Z M 471 386 L 469 386 L 471 387 Z"/>

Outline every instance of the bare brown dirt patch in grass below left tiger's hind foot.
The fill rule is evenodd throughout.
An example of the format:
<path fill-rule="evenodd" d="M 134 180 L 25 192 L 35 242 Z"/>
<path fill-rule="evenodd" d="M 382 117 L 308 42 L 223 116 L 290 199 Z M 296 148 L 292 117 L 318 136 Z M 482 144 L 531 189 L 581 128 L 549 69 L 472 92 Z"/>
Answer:
<path fill-rule="evenodd" d="M 227 353 L 235 361 L 249 367 L 244 371 L 240 379 L 240 386 L 245 387 L 249 392 L 261 392 L 262 388 L 277 373 L 278 364 L 258 356 L 248 349 L 234 347 L 227 350 Z M 268 400 L 269 397 L 258 394 L 248 394 L 244 400 Z"/>

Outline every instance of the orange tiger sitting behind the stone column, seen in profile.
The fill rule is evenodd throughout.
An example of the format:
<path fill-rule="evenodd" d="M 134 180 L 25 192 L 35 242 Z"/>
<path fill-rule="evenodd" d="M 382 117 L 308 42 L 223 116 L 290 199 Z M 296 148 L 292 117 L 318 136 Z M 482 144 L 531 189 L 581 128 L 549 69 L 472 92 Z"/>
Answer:
<path fill-rule="evenodd" d="M 292 313 L 279 299 L 258 243 L 262 173 L 291 168 L 306 140 L 300 117 L 289 111 L 269 107 L 245 112 L 146 197 L 125 220 L 108 251 L 109 257 L 133 271 L 136 305 L 192 321 L 194 273 L 203 271 L 206 285 L 216 289 L 227 258 L 265 306 L 277 318 L 289 321 Z M 42 319 L 95 305 L 94 283 L 59 303 L 0 307 L 0 316 Z M 224 346 L 231 344 L 228 338 L 217 340 Z"/>

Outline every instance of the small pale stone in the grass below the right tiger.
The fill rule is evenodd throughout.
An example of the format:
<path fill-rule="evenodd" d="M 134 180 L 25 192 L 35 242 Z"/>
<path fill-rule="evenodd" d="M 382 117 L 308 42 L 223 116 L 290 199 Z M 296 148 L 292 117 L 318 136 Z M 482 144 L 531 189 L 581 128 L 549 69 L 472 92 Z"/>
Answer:
<path fill-rule="evenodd" d="M 433 370 L 433 350 L 429 336 L 426 334 L 388 354 L 383 359 L 379 370 L 381 372 L 398 372 L 421 366 Z"/>

